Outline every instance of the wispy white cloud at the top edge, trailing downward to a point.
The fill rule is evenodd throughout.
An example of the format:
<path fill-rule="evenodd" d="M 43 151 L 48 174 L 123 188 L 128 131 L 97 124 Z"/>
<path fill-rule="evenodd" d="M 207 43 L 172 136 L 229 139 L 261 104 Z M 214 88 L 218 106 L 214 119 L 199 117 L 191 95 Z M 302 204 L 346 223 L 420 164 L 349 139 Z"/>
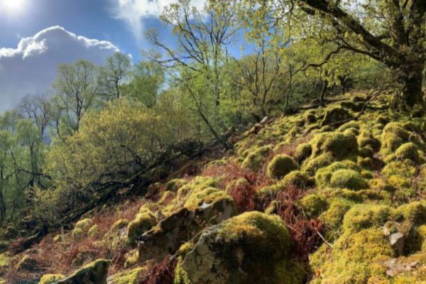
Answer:
<path fill-rule="evenodd" d="M 176 0 L 110 0 L 111 13 L 116 19 L 126 22 L 131 32 L 140 42 L 143 37 L 143 19 L 158 18 L 165 6 Z M 202 9 L 205 0 L 191 0 L 192 6 Z"/>

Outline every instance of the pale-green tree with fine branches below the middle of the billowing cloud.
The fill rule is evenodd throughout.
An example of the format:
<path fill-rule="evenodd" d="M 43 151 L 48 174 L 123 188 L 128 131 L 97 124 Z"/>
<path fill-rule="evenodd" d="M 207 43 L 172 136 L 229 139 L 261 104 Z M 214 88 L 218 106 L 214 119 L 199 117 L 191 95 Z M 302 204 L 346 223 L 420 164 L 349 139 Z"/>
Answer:
<path fill-rule="evenodd" d="M 53 84 L 63 110 L 63 118 L 70 131 L 77 131 L 80 121 L 96 99 L 97 68 L 92 62 L 79 60 L 71 65 L 58 67 L 58 80 Z"/>

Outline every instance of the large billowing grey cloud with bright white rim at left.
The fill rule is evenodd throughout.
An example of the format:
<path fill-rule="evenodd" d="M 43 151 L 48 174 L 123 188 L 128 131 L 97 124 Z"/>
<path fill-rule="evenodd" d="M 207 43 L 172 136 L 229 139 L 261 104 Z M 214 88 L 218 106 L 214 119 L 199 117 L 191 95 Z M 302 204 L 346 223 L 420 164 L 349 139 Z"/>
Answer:
<path fill-rule="evenodd" d="M 102 64 L 118 51 L 109 41 L 75 35 L 60 26 L 21 38 L 17 48 L 0 48 L 0 111 L 16 107 L 26 94 L 48 90 L 61 63 L 86 59 Z"/>

